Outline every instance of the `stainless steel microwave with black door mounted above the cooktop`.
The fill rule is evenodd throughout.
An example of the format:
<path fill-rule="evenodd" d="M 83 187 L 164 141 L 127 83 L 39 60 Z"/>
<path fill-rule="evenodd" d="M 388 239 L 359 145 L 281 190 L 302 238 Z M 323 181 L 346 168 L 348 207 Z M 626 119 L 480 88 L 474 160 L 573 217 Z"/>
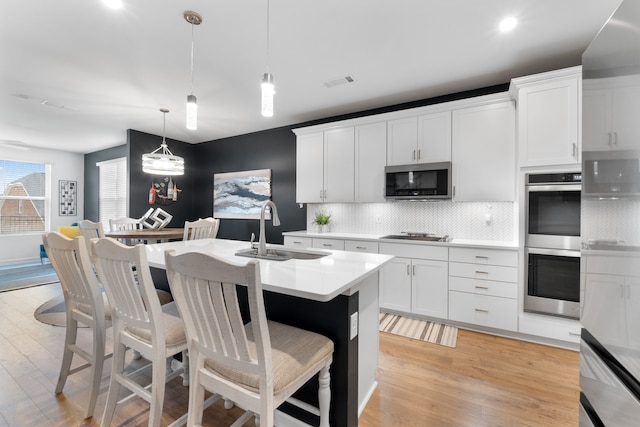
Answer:
<path fill-rule="evenodd" d="M 387 199 L 451 198 L 451 162 L 387 166 L 384 172 Z"/>

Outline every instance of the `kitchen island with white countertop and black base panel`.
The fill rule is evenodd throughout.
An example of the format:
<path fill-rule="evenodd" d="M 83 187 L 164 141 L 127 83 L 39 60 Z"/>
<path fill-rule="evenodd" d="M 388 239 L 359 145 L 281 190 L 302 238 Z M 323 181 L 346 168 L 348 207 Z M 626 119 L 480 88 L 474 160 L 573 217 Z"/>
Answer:
<path fill-rule="evenodd" d="M 236 263 L 248 242 L 202 239 L 146 245 L 149 265 L 164 269 L 164 252 L 202 251 Z M 267 248 L 285 249 L 280 245 Z M 333 427 L 358 425 L 358 416 L 376 387 L 378 366 L 378 272 L 390 255 L 323 251 L 318 259 L 260 260 L 267 317 L 321 333 L 335 345 L 331 365 Z M 157 277 L 157 274 L 154 275 Z M 242 295 L 241 295 L 242 297 Z M 317 407 L 317 379 L 296 398 Z M 283 404 L 276 413 L 281 426 L 317 425 L 317 417 Z"/>

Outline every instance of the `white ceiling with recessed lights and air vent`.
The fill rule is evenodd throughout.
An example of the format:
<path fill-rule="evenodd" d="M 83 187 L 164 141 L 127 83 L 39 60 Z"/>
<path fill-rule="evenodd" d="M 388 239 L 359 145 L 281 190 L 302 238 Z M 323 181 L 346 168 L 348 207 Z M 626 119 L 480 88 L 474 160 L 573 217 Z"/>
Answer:
<path fill-rule="evenodd" d="M 260 115 L 267 0 L 2 0 L 0 152 L 79 153 L 126 129 L 190 143 L 508 82 L 568 67 L 621 0 L 270 0 L 275 115 Z M 198 130 L 185 128 L 191 90 Z M 497 29 L 515 15 L 511 33 Z M 353 75 L 355 83 L 324 82 Z M 46 101 L 46 105 L 42 105 Z M 10 141 L 10 143 L 7 143 Z"/>

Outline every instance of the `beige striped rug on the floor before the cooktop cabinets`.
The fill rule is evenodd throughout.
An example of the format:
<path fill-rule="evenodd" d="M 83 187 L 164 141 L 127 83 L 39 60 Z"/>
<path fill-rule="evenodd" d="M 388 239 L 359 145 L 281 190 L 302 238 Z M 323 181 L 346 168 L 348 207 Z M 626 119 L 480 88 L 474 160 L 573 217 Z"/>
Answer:
<path fill-rule="evenodd" d="M 456 347 L 458 328 L 395 314 L 380 313 L 380 331 L 432 344 Z"/>

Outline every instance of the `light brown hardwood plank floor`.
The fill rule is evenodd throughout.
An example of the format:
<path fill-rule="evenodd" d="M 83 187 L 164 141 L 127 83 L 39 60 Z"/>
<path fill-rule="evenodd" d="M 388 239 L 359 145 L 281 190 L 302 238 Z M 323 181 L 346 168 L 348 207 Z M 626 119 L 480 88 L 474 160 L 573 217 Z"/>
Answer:
<path fill-rule="evenodd" d="M 64 328 L 36 321 L 33 312 L 60 293 L 57 284 L 0 293 L 0 427 L 100 424 L 106 393 L 98 398 L 97 418 L 82 419 L 88 372 L 70 376 L 64 392 L 53 393 Z M 87 330 L 80 336 L 88 342 Z M 379 385 L 359 425 L 577 426 L 578 359 L 573 351 L 464 330 L 455 349 L 382 333 Z M 104 384 L 109 371 L 107 362 Z M 180 379 L 167 385 L 163 425 L 186 411 L 187 399 Z M 228 426 L 238 415 L 217 403 L 205 411 L 204 426 Z M 121 426 L 147 420 L 140 399 L 114 417 Z"/>

